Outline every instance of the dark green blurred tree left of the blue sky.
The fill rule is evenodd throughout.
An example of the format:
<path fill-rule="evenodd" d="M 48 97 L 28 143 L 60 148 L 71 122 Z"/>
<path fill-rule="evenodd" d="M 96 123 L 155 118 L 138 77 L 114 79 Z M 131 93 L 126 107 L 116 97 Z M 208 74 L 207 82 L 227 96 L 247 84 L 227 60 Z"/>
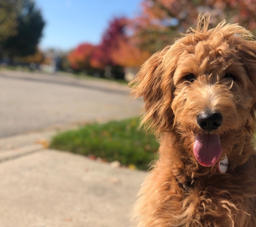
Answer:
<path fill-rule="evenodd" d="M 12 61 L 14 56 L 36 53 L 37 45 L 45 25 L 40 10 L 31 0 L 21 0 L 16 6 L 17 34 L 3 42 L 3 51 Z"/>

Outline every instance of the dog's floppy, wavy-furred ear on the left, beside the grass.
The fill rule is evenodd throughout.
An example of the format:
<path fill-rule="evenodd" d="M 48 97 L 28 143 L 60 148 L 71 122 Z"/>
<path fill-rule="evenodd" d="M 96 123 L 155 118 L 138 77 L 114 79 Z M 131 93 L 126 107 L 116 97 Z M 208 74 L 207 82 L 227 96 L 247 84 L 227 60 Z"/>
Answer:
<path fill-rule="evenodd" d="M 169 52 L 170 46 L 152 55 L 129 84 L 133 88 L 132 95 L 144 98 L 146 113 L 142 124 L 146 130 L 155 133 L 170 131 L 174 118 L 171 110 L 173 86 L 170 70 L 174 66 L 170 66 Z"/>

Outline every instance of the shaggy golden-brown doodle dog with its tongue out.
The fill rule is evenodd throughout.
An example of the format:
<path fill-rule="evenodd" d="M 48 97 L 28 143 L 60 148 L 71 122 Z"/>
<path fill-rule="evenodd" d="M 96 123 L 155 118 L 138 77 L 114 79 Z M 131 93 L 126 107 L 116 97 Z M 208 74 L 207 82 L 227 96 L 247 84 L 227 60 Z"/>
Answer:
<path fill-rule="evenodd" d="M 256 41 L 209 16 L 130 83 L 160 141 L 139 192 L 139 227 L 256 226 Z"/>

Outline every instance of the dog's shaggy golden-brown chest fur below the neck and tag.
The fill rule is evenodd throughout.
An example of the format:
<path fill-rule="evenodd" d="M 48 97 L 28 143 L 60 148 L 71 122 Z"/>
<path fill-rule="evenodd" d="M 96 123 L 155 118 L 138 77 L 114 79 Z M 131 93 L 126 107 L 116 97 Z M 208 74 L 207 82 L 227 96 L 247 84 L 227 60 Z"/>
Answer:
<path fill-rule="evenodd" d="M 136 207 L 147 215 L 138 226 L 255 227 L 255 163 L 253 156 L 232 173 L 181 183 L 173 165 L 158 162 L 140 191 Z"/>

